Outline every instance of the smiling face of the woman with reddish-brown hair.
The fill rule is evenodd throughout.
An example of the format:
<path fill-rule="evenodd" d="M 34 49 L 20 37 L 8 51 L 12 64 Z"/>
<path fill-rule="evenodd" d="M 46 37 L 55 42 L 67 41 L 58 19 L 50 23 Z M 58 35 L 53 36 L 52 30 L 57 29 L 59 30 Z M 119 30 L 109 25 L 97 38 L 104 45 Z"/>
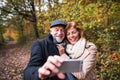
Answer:
<path fill-rule="evenodd" d="M 71 44 L 73 44 L 73 45 L 74 45 L 74 44 L 79 40 L 79 38 L 80 38 L 79 32 L 77 31 L 77 29 L 75 29 L 75 28 L 73 28 L 73 27 L 71 27 L 71 28 L 69 28 L 69 29 L 67 30 L 66 36 L 67 36 L 68 41 L 69 41 Z"/>

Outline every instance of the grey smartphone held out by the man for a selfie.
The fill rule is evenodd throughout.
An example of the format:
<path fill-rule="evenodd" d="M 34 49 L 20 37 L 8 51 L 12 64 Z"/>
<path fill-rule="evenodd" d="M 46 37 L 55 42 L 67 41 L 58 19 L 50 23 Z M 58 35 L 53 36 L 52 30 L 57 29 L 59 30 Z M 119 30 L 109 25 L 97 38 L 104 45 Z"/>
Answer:
<path fill-rule="evenodd" d="M 61 67 L 59 68 L 63 73 L 69 72 L 81 72 L 83 61 L 78 59 L 67 59 L 65 60 Z"/>

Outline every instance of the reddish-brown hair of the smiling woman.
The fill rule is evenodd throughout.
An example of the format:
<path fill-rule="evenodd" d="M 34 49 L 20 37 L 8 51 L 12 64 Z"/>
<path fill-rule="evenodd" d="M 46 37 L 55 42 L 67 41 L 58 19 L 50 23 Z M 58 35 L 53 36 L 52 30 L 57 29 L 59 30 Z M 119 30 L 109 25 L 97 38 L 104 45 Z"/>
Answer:
<path fill-rule="evenodd" d="M 85 38 L 85 33 L 81 25 L 78 25 L 76 22 L 71 21 L 67 23 L 67 26 L 65 28 L 65 34 L 67 34 L 68 29 L 75 28 L 79 32 L 80 38 Z"/>

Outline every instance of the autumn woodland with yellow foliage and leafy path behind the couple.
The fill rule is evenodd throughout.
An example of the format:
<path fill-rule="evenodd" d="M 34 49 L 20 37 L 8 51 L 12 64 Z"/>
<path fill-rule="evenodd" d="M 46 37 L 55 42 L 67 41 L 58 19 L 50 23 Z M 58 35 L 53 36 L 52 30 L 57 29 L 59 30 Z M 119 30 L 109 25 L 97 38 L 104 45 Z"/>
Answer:
<path fill-rule="evenodd" d="M 0 80 L 23 80 L 30 48 L 62 19 L 98 48 L 98 80 L 120 80 L 120 0 L 0 0 Z"/>

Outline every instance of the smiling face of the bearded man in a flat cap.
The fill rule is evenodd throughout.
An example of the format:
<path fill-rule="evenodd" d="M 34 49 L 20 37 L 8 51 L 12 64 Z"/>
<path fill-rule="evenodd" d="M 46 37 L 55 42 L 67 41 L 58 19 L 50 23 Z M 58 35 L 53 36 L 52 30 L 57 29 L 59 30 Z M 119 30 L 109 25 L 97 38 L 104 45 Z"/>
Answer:
<path fill-rule="evenodd" d="M 64 28 L 60 25 L 50 28 L 50 33 L 57 40 L 57 42 L 62 42 L 65 38 Z"/>

